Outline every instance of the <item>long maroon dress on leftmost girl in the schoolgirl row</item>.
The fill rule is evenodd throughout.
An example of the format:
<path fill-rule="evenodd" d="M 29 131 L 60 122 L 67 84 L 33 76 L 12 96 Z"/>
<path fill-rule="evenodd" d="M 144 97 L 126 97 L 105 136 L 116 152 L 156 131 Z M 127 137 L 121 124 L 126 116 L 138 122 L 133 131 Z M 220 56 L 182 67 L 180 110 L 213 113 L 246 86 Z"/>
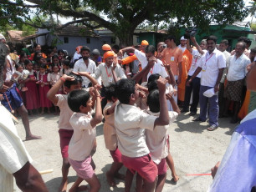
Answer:
<path fill-rule="evenodd" d="M 36 78 L 33 71 L 29 73 L 28 78 Z M 26 108 L 29 110 L 38 109 L 40 107 L 38 85 L 35 81 L 28 81 L 25 83 L 28 91 L 25 92 Z"/>

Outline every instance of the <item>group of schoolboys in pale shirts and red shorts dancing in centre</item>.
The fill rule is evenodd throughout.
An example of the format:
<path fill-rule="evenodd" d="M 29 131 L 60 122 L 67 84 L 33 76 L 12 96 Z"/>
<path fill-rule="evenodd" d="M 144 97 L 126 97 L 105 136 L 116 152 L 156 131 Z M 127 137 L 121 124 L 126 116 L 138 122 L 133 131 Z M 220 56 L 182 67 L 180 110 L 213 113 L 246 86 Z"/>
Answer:
<path fill-rule="evenodd" d="M 96 125 L 105 118 L 105 147 L 110 150 L 113 164 L 106 173 L 106 179 L 115 186 L 115 179 L 125 179 L 125 191 L 131 190 L 134 174 L 136 191 L 161 191 L 166 180 L 166 162 L 170 164 L 172 177 L 177 182 L 172 155 L 169 153 L 169 125 L 180 113 L 172 93 L 166 94 L 166 78 L 153 74 L 147 88 L 137 83 L 150 72 L 148 64 L 133 78 L 120 79 L 105 87 L 108 103 L 101 109 L 100 85 L 89 73 L 64 74 L 49 89 L 47 98 L 60 109 L 59 138 L 63 157 L 63 180 L 59 191 L 65 191 L 68 184 L 69 166 L 78 175 L 70 192 L 79 189 L 85 180 L 90 191 L 100 190 L 100 181 L 95 175 L 95 163 L 92 159 L 96 151 Z M 44 73 L 45 71 L 42 71 Z M 84 76 L 92 83 L 91 88 L 82 89 Z M 64 88 L 64 93 L 59 89 Z M 141 110 L 136 101 L 147 92 L 148 109 Z M 166 98 L 172 104 L 172 112 L 167 109 Z M 120 174 L 122 166 L 126 174 Z M 83 187 L 83 186 L 82 186 Z"/>

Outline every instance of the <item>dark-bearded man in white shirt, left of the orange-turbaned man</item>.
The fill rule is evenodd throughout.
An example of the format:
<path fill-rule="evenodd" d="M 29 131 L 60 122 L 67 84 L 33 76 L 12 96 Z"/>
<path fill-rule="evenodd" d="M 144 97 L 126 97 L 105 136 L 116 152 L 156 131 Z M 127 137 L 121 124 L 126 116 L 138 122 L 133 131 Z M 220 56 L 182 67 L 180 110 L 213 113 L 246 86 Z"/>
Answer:
<path fill-rule="evenodd" d="M 80 58 L 76 63 L 74 63 L 74 72 L 87 72 L 87 73 L 95 73 L 96 72 L 96 64 L 93 60 L 90 59 L 90 48 L 83 47 L 80 51 L 83 58 Z M 87 88 L 89 86 L 90 80 L 88 78 L 82 77 L 83 88 Z"/>

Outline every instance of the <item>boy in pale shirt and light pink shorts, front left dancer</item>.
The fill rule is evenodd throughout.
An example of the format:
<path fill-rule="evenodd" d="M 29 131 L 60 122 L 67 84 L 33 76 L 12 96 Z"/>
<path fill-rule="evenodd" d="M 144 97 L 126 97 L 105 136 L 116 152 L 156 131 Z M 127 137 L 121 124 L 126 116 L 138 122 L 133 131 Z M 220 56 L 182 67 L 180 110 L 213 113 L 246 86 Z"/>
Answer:
<path fill-rule="evenodd" d="M 90 191 L 100 190 L 100 181 L 96 177 L 91 166 L 91 150 L 94 148 L 97 124 L 102 120 L 100 105 L 100 93 L 95 86 L 94 94 L 96 97 L 95 115 L 92 117 L 92 100 L 90 93 L 85 90 L 74 90 L 69 93 L 69 108 L 74 111 L 69 123 L 74 129 L 74 134 L 69 143 L 69 163 L 78 174 L 79 178 L 84 179 L 90 184 Z M 72 186 L 76 191 L 80 179 L 77 179 Z M 69 190 L 70 191 L 70 190 Z"/>

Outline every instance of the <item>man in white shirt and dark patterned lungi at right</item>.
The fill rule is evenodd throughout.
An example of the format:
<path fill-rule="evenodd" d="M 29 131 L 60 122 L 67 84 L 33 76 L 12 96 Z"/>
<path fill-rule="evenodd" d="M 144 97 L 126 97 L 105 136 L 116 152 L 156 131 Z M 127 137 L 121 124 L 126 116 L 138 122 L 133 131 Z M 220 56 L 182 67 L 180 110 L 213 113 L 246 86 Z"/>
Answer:
<path fill-rule="evenodd" d="M 224 116 L 228 116 L 228 108 L 231 101 L 233 105 L 233 118 L 230 123 L 235 124 L 238 122 L 238 112 L 242 103 L 242 92 L 244 78 L 247 73 L 247 66 L 251 63 L 250 59 L 243 53 L 245 43 L 239 42 L 236 44 L 235 55 L 230 57 L 228 62 L 228 83 L 225 88 L 224 97 L 227 98 L 225 102 Z"/>

